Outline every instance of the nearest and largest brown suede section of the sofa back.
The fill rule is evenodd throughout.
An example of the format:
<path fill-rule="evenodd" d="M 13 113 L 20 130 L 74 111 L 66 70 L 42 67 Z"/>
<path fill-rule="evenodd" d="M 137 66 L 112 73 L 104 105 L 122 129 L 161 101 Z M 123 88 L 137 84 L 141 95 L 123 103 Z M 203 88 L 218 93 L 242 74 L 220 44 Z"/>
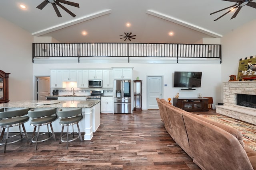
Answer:
<path fill-rule="evenodd" d="M 252 170 L 236 137 L 223 129 L 183 114 L 193 161 L 203 170 Z"/>

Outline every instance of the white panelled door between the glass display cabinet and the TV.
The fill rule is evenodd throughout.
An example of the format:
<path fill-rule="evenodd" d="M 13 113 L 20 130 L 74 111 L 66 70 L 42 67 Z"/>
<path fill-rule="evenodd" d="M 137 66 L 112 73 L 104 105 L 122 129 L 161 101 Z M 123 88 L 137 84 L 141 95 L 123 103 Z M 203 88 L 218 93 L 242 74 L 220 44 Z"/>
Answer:
<path fill-rule="evenodd" d="M 162 98 L 162 76 L 148 76 L 147 96 L 148 109 L 158 109 L 156 98 Z"/>

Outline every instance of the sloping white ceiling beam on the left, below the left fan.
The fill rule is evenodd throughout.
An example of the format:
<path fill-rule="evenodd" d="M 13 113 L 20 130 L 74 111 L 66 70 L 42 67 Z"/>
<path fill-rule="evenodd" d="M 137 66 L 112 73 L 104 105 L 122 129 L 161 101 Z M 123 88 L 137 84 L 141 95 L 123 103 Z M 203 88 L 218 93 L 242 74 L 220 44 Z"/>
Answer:
<path fill-rule="evenodd" d="M 93 14 L 89 14 L 87 16 L 83 16 L 83 17 L 80 17 L 80 18 L 77 18 L 77 19 L 74 19 L 74 20 L 71 20 L 71 21 L 67 21 L 67 22 L 64 22 L 64 23 L 60 23 L 58 25 L 54 25 L 54 26 L 46 28 L 46 29 L 42 29 L 40 31 L 32 33 L 32 35 L 34 35 L 34 36 L 44 35 L 44 34 L 52 32 L 52 31 L 56 31 L 56 30 L 59 30 L 59 29 L 65 28 L 65 27 L 69 27 L 71 25 L 75 25 L 77 23 L 81 23 L 81 22 L 84 22 L 84 21 L 92 20 L 94 18 L 104 16 L 104 15 L 107 15 L 107 14 L 110 14 L 110 13 L 112 13 L 112 10 L 102 10 L 102 11 L 99 11 L 99 12 L 95 12 Z"/>

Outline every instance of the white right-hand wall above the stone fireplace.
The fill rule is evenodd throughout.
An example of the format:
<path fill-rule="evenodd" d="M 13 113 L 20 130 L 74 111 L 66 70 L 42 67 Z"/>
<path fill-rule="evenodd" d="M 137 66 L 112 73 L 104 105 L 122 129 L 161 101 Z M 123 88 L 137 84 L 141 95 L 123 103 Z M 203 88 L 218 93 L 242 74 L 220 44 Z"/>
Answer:
<path fill-rule="evenodd" d="M 237 75 L 239 59 L 256 55 L 255 29 L 253 20 L 222 37 L 222 82 L 227 82 L 232 74 Z"/>

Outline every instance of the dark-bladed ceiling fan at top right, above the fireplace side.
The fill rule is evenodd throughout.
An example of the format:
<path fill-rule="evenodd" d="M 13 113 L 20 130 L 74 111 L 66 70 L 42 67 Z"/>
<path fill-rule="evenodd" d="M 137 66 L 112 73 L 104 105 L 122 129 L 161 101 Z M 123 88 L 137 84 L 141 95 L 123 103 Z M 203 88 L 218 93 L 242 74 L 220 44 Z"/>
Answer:
<path fill-rule="evenodd" d="M 233 11 L 233 10 L 235 10 L 235 9 L 236 9 L 236 12 L 235 12 L 234 15 L 232 16 L 232 18 L 230 18 L 230 20 L 233 19 L 233 18 L 236 18 L 238 12 L 239 12 L 239 11 L 241 10 L 241 8 L 242 8 L 243 6 L 245 6 L 245 5 L 250 6 L 250 7 L 252 7 L 252 8 L 256 8 L 256 3 L 255 3 L 255 2 L 252 2 L 253 0 L 224 0 L 224 1 L 236 2 L 236 4 L 234 4 L 234 5 L 232 5 L 232 6 L 229 6 L 229 7 L 227 7 L 227 8 L 224 8 L 224 9 L 222 9 L 222 10 L 218 10 L 218 11 L 216 11 L 216 12 L 212 12 L 210 15 L 215 14 L 215 13 L 220 12 L 220 11 L 223 11 L 223 10 L 226 10 L 226 9 L 228 9 L 228 8 L 231 8 L 230 10 L 228 10 L 228 12 L 226 12 L 225 14 L 223 14 L 222 16 L 220 16 L 219 18 L 217 18 L 217 19 L 214 20 L 214 21 L 217 21 L 218 19 L 222 18 L 224 15 L 228 14 L 229 12 L 231 12 L 231 11 Z"/>

